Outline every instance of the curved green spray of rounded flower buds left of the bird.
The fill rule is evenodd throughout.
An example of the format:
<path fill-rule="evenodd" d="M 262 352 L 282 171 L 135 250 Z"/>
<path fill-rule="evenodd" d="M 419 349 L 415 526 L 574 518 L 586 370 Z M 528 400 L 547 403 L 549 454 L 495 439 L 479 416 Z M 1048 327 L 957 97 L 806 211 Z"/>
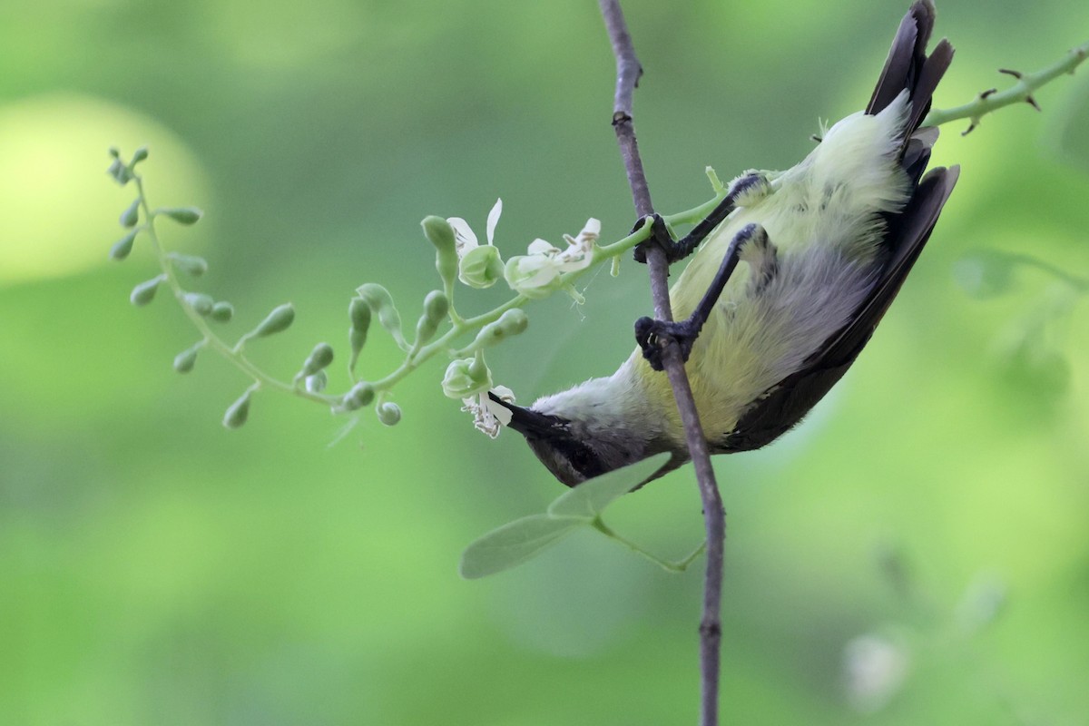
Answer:
<path fill-rule="evenodd" d="M 442 385 L 445 394 L 455 398 L 480 394 L 492 386 L 491 371 L 484 360 L 484 349 L 523 332 L 528 324 L 525 312 L 517 308 L 505 310 L 498 319 L 487 324 L 482 321 L 493 318 L 494 312 L 464 319 L 454 310 L 451 299 L 455 280 L 460 279 L 472 287 L 484 288 L 493 285 L 503 276 L 503 260 L 499 250 L 491 244 L 501 202 L 497 201 L 489 214 L 488 244 L 475 244 L 472 232 L 468 232 L 466 234 L 469 236 L 464 241 L 472 247 L 468 250 L 458 249 L 458 245 L 463 242 L 463 233 L 461 227 L 455 231 L 455 226 L 464 220 L 428 217 L 423 220 L 421 226 L 425 236 L 435 246 L 436 270 L 442 280 L 442 287 L 425 296 L 412 343 L 405 340 L 402 317 L 393 296 L 382 285 L 367 283 L 357 288 L 356 296 L 348 305 L 351 355 L 347 368 L 350 377 L 355 381 L 352 389 L 342 395 L 322 393 L 329 383 L 327 369 L 334 358 L 333 348 L 328 343 L 319 343 L 313 348 L 291 383 L 278 381 L 246 358 L 244 346 L 247 341 L 268 337 L 290 328 L 295 319 L 294 307 L 290 303 L 277 306 L 255 328 L 238 337 L 233 346 L 211 332 L 205 321 L 229 322 L 234 317 L 234 307 L 206 293 L 182 287 L 180 282 L 182 279 L 206 274 L 208 261 L 193 255 L 164 251 L 155 226 L 159 217 L 169 218 L 179 224 L 192 225 L 200 221 L 203 212 L 196 207 L 151 208 L 148 205 L 144 196 L 143 179 L 135 171 L 136 165 L 147 159 L 146 148 L 138 149 L 127 163 L 121 160 L 120 151 L 117 149 L 111 149 L 110 156 L 112 161 L 109 174 L 121 185 L 134 183 L 137 195 L 120 216 L 119 222 L 125 229 L 125 233 L 111 246 L 109 256 L 114 260 L 127 259 L 136 239 L 140 238 L 147 241 L 160 266 L 160 274 L 133 288 L 132 303 L 137 306 L 147 305 L 155 298 L 160 285 L 166 284 L 198 331 L 204 334 L 197 343 L 174 356 L 174 370 L 179 373 L 192 371 L 200 350 L 210 347 L 232 361 L 254 381 L 254 384 L 224 413 L 223 424 L 228 428 L 238 428 L 246 422 L 253 394 L 262 387 L 286 390 L 303 397 L 321 401 L 330 404 L 334 411 L 356 411 L 365 406 L 374 406 L 375 415 L 382 424 L 394 426 L 402 418 L 401 407 L 388 399 L 389 390 L 394 382 L 437 352 L 451 353 L 450 346 L 456 337 L 476 332 L 475 339 L 467 347 L 451 354 L 458 359 L 448 367 Z M 528 267 L 525 272 L 527 274 L 530 272 Z M 355 378 L 356 366 L 367 343 L 371 321 L 375 319 L 406 355 L 395 371 L 378 379 L 377 382 L 358 381 Z M 446 325 L 449 331 L 440 336 L 440 328 L 444 327 L 444 322 L 449 323 Z"/>

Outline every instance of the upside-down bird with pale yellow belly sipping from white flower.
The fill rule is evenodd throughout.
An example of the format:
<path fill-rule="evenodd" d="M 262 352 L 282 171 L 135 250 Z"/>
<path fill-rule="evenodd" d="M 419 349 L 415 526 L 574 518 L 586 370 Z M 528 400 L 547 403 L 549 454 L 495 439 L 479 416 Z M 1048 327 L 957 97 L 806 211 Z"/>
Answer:
<path fill-rule="evenodd" d="M 771 443 L 847 371 L 959 174 L 957 165 L 926 171 L 938 130 L 921 124 L 953 59 L 945 39 L 927 53 L 934 19 L 931 0 L 910 7 L 869 103 L 828 128 L 800 163 L 739 176 L 687 237 L 665 241 L 671 261 L 695 250 L 670 291 L 680 322 L 637 321 L 639 345 L 612 376 L 529 407 L 492 395 L 556 479 L 575 487 L 670 453 L 650 481 L 688 460 L 658 372 L 665 335 L 685 355 L 711 454 Z M 656 233 L 668 236 L 660 222 Z"/>

